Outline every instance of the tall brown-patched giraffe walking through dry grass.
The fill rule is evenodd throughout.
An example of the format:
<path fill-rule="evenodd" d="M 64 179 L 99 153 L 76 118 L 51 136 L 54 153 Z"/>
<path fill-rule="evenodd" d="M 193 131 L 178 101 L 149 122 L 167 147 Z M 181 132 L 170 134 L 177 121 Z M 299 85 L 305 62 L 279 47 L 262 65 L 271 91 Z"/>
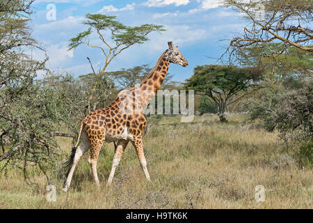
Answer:
<path fill-rule="evenodd" d="M 129 141 L 136 149 L 145 178 L 150 181 L 147 162 L 143 152 L 143 130 L 147 123 L 143 115 L 143 108 L 157 93 L 157 90 L 160 89 L 170 63 L 176 63 L 183 67 L 188 66 L 188 61 L 179 52 L 178 47 L 174 47 L 172 42 L 168 42 L 168 49 L 161 54 L 157 64 L 140 84 L 133 88 L 122 90 L 111 105 L 97 109 L 83 118 L 77 144 L 72 148 L 70 159 L 65 164 L 65 170 L 67 171 L 67 179 L 63 187 L 65 192 L 70 187 L 77 162 L 89 149 L 88 163 L 90 164 L 95 183 L 99 185 L 97 158 L 104 141 L 107 143 L 114 142 L 115 147 L 111 172 L 106 185 L 111 185 L 115 169 L 118 167 Z M 81 139 L 80 144 L 79 139 Z M 77 147 L 78 144 L 79 146 Z"/>

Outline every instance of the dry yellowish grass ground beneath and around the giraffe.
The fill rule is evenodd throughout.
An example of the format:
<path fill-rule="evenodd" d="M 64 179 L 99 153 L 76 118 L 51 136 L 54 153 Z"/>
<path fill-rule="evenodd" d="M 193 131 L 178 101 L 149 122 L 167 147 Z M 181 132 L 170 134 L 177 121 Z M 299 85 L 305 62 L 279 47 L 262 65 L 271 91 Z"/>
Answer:
<path fill-rule="evenodd" d="M 294 151 L 243 115 L 196 116 L 192 123 L 162 117 L 147 133 L 144 146 L 152 182 L 148 183 L 134 147 L 127 146 L 111 187 L 106 180 L 113 144 L 98 160 L 101 187 L 93 183 L 87 155 L 80 160 L 69 192 L 58 180 L 57 200 L 45 199 L 47 180 L 33 173 L 39 185 L 29 186 L 14 170 L 0 177 L 0 208 L 313 208 L 312 169 L 300 167 Z M 155 121 L 155 120 L 154 120 Z M 58 139 L 70 154 L 72 140 Z M 264 185 L 265 201 L 255 201 L 255 187 Z"/>

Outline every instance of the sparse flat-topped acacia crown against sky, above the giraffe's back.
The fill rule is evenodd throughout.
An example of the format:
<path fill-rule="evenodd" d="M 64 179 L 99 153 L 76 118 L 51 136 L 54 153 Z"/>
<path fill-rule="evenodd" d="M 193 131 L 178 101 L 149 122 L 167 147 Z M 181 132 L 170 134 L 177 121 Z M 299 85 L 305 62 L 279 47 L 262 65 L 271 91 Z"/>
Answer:
<path fill-rule="evenodd" d="M 126 26 L 116 20 L 114 15 L 86 14 L 87 20 L 83 22 L 88 29 L 78 33 L 70 39 L 69 49 L 75 49 L 79 45 L 101 49 L 105 56 L 104 66 L 100 73 L 103 73 L 109 63 L 123 50 L 135 44 L 145 43 L 147 35 L 153 31 L 165 31 L 163 26 L 155 24 L 143 24 L 141 26 Z M 97 36 L 104 44 L 104 47 L 90 43 L 90 35 L 97 33 Z"/>

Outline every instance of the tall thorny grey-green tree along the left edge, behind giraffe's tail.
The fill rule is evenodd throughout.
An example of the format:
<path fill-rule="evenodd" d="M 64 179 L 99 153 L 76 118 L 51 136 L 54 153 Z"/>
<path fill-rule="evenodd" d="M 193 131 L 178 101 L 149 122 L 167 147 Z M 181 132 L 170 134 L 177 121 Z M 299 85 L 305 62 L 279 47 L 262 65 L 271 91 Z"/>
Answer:
<path fill-rule="evenodd" d="M 0 3 L 0 162 L 1 169 L 22 169 L 29 183 L 29 167 L 47 176 L 56 170 L 58 146 L 51 137 L 58 127 L 56 107 L 62 103 L 51 89 L 35 84 L 45 62 L 24 52 L 40 48 L 28 22 L 31 3 L 5 0 Z"/>

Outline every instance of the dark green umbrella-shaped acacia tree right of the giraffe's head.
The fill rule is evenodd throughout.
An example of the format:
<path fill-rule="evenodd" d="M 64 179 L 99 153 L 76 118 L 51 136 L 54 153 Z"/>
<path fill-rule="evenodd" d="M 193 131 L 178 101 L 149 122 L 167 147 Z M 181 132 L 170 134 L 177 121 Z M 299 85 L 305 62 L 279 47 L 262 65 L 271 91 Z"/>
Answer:
<path fill-rule="evenodd" d="M 259 89 L 257 81 L 260 77 L 261 72 L 252 68 L 221 65 L 196 66 L 194 75 L 186 79 L 185 87 L 211 98 L 218 108 L 220 121 L 226 122 L 225 108 Z M 233 100 L 234 95 L 239 95 L 239 97 Z"/>

